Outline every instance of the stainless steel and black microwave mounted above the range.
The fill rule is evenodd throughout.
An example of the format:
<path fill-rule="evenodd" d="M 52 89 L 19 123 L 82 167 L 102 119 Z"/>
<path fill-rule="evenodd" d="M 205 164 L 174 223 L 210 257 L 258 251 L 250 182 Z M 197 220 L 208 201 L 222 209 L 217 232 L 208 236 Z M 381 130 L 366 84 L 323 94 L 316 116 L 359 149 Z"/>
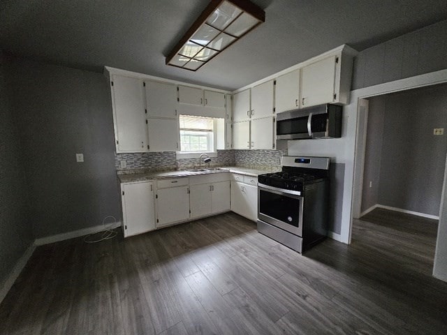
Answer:
<path fill-rule="evenodd" d="M 318 105 L 277 114 L 277 140 L 342 137 L 343 107 Z"/>

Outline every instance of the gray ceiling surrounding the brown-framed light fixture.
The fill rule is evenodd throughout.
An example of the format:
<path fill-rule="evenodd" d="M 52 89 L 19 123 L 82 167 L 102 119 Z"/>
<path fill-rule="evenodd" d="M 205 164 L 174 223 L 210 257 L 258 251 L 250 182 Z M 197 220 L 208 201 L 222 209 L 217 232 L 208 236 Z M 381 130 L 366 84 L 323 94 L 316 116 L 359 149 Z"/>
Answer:
<path fill-rule="evenodd" d="M 361 51 L 447 17 L 446 0 L 253 0 L 265 10 L 264 24 L 196 73 L 166 66 L 166 54 L 208 2 L 1 0 L 0 49 L 233 90 L 339 45 Z"/>

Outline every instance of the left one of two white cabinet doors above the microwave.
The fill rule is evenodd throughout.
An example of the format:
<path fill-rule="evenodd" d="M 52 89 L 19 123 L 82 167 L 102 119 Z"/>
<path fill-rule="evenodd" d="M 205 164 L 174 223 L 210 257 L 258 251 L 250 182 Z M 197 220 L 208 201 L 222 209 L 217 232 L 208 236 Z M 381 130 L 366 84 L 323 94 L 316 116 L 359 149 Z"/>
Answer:
<path fill-rule="evenodd" d="M 274 96 L 276 112 L 296 110 L 300 106 L 300 70 L 277 77 Z"/>

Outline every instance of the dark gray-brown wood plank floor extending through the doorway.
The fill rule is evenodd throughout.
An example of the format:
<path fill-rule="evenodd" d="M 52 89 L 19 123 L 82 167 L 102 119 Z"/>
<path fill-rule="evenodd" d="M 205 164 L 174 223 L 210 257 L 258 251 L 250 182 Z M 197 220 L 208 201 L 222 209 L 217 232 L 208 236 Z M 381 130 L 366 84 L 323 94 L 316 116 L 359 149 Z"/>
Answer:
<path fill-rule="evenodd" d="M 0 334 L 447 334 L 437 222 L 376 209 L 300 255 L 228 213 L 38 247 Z"/>

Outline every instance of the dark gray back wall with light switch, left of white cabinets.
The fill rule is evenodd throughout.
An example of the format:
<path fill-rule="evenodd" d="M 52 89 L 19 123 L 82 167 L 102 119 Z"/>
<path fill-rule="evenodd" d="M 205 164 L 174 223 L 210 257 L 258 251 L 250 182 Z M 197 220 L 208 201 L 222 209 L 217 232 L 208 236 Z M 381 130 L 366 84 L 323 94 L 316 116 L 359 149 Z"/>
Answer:
<path fill-rule="evenodd" d="M 8 71 L 36 238 L 119 220 L 110 90 L 99 73 L 14 61 Z M 84 154 L 76 163 L 75 153 Z"/>

